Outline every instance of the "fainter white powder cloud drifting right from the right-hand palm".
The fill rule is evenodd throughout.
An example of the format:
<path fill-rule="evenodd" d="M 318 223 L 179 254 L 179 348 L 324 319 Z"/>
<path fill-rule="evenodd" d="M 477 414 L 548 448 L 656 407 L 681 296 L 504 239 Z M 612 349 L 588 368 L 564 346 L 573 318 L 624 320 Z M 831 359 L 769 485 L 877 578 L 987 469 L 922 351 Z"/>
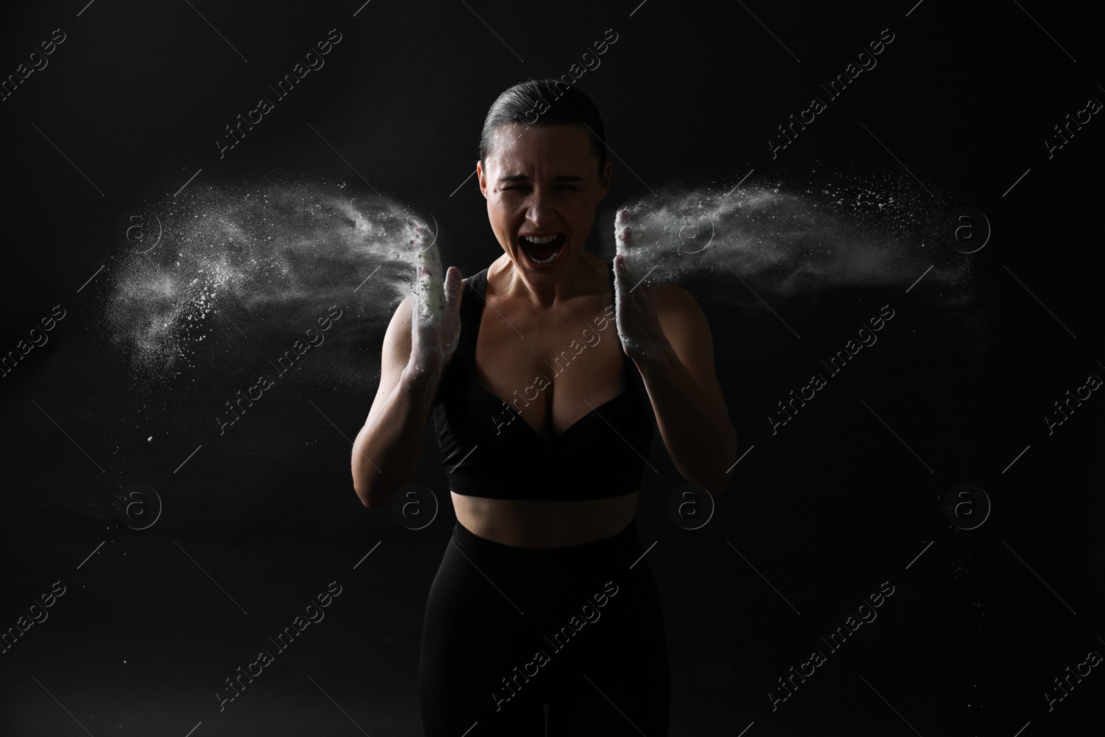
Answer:
<path fill-rule="evenodd" d="M 928 186 L 936 191 L 934 186 Z M 636 283 L 682 283 L 711 274 L 711 298 L 759 303 L 825 287 L 908 287 L 929 265 L 926 287 L 967 273 L 969 257 L 946 246 L 948 194 L 929 194 L 907 173 L 664 190 L 625 206 Z M 618 225 L 615 225 L 618 228 Z M 741 284 L 740 280 L 744 280 Z M 732 283 L 732 288 L 718 285 Z M 749 288 L 750 287 L 750 288 Z M 755 291 L 755 294 L 753 293 Z M 949 298 L 966 297 L 949 294 Z"/>

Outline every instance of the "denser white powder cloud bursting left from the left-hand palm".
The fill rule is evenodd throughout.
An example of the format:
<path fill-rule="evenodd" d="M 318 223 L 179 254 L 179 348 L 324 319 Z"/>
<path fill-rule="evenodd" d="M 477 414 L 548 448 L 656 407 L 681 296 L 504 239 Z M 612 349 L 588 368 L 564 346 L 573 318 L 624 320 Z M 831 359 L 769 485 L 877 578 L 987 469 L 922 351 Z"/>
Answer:
<path fill-rule="evenodd" d="M 402 248 L 411 208 L 302 180 L 193 183 L 146 207 L 161 239 L 148 253 L 118 254 L 102 324 L 136 388 L 260 370 L 332 305 L 352 317 L 327 333 L 303 380 L 372 383 L 379 340 L 414 284 L 419 256 Z"/>

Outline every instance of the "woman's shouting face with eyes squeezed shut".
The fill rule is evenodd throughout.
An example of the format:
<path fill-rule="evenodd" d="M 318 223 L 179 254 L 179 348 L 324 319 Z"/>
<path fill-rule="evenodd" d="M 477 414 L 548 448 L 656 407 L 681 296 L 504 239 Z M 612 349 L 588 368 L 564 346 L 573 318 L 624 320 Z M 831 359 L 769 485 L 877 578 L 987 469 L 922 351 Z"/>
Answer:
<path fill-rule="evenodd" d="M 552 285 L 570 273 L 576 254 L 594 223 L 598 202 L 610 189 L 611 165 L 599 176 L 581 125 L 526 127 L 502 125 L 486 161 L 476 165 L 480 191 L 499 245 L 530 284 Z M 535 264 L 523 236 L 557 235 L 547 253 L 561 243 L 552 262 Z M 548 256 L 547 256 L 548 257 Z"/>

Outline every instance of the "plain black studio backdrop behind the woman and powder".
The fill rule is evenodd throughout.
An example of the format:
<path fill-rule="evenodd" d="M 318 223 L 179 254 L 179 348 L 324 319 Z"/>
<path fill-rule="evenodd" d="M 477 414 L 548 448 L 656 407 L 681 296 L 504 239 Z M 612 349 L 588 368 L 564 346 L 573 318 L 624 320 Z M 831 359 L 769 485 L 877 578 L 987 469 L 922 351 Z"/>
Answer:
<path fill-rule="evenodd" d="M 66 40 L 0 103 L 0 349 L 53 305 L 67 315 L 2 379 L 0 627 L 52 582 L 66 592 L 0 655 L 0 731 L 185 735 L 199 723 L 192 734 L 354 735 L 356 722 L 372 735 L 421 734 L 421 617 L 454 518 L 430 429 L 415 481 L 444 504 L 432 525 L 404 529 L 354 494 L 347 439 L 371 403 L 382 333 L 356 397 L 325 386 L 284 396 L 264 422 L 175 473 L 210 419 L 171 401 L 136 418 L 125 365 L 93 329 L 105 273 L 82 285 L 118 257 L 120 213 L 200 169 L 189 186 L 270 168 L 367 180 L 432 210 L 449 234 L 443 260 L 474 273 L 499 248 L 474 178 L 451 193 L 472 171 L 488 105 L 516 82 L 566 72 L 609 28 L 619 40 L 580 80 L 617 155 L 604 219 L 643 182 L 733 186 L 755 169 L 749 182 L 762 185 L 815 167 L 904 165 L 983 211 L 993 231 L 982 251 L 957 254 L 970 278 L 951 288 L 972 297 L 957 309 L 924 281 L 908 294 L 827 289 L 772 305 L 794 339 L 764 310 L 712 309 L 711 291 L 735 284 L 695 291 L 739 452 L 751 450 L 698 530 L 667 516 L 683 481 L 659 436 L 659 473 L 643 480 L 638 524 L 645 547 L 657 541 L 649 561 L 672 653 L 671 734 L 1030 736 L 1098 723 L 1099 668 L 1052 710 L 1044 691 L 1088 651 L 1105 653 L 1105 400 L 1095 392 L 1051 435 L 1042 417 L 1105 376 L 1105 124 L 1094 116 L 1052 158 L 1043 144 L 1086 99 L 1105 99 L 1099 18 L 1075 4 L 965 11 L 936 0 L 372 0 L 356 18 L 356 0 L 192 6 L 3 11 L 3 75 L 53 29 Z M 223 126 L 334 28 L 343 40 L 326 66 L 220 159 Z M 772 159 L 776 126 L 886 28 L 895 40 L 878 66 Z M 775 402 L 886 303 L 897 316 L 883 347 L 772 436 Z M 145 530 L 112 508 L 131 483 L 164 503 Z M 961 483 L 992 504 L 976 529 L 943 509 Z M 220 713 L 223 678 L 332 580 L 343 593 L 324 622 Z M 895 589 L 878 618 L 772 712 L 776 680 L 823 650 L 820 635 L 883 581 Z"/>

